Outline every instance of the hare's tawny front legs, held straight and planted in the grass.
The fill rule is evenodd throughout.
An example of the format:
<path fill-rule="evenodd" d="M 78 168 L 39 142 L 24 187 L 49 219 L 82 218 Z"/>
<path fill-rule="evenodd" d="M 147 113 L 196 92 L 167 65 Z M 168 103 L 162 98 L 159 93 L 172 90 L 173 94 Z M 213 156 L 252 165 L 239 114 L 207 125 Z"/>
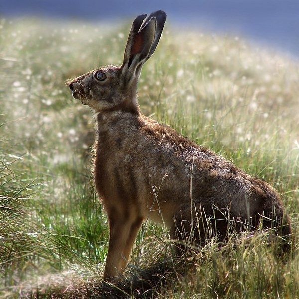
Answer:
<path fill-rule="evenodd" d="M 143 218 L 133 215 L 118 214 L 115 210 L 108 213 L 109 246 L 103 279 L 110 282 L 119 280 L 129 259 L 132 244 Z"/>

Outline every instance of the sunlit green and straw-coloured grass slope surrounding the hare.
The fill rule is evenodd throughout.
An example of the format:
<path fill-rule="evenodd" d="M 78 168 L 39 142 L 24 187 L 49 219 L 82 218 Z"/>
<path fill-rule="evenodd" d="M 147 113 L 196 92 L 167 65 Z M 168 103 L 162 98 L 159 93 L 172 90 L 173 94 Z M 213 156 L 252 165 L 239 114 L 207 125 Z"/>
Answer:
<path fill-rule="evenodd" d="M 167 28 L 140 78 L 142 112 L 273 184 L 293 258 L 277 258 L 259 232 L 177 259 L 167 231 L 146 223 L 120 288 L 101 282 L 94 115 L 64 82 L 120 64 L 129 28 L 0 18 L 0 297 L 299 298 L 299 65 L 231 36 Z"/>

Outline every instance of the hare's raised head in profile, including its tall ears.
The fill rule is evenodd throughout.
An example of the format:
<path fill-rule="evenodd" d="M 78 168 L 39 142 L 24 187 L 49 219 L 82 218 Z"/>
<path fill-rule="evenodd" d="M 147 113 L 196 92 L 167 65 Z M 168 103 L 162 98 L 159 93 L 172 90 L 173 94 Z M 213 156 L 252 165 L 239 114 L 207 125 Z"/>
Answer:
<path fill-rule="evenodd" d="M 74 79 L 69 87 L 73 97 L 96 112 L 121 109 L 138 112 L 137 80 L 142 66 L 153 54 L 166 20 L 164 11 L 135 18 L 121 66 L 107 66 Z"/>

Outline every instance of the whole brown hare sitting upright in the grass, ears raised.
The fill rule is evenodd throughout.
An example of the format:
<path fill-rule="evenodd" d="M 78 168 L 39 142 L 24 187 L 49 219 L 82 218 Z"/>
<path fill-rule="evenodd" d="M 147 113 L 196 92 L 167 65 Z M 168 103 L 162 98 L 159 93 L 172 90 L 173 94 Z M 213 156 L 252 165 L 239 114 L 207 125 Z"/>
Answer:
<path fill-rule="evenodd" d="M 166 13 L 133 21 L 121 66 L 69 83 L 73 97 L 97 113 L 95 185 L 109 220 L 104 280 L 116 283 L 145 219 L 170 229 L 178 253 L 233 230 L 276 228 L 291 234 L 273 188 L 214 152 L 140 113 L 137 81 L 162 34 Z M 189 243 L 188 243 L 189 242 Z M 286 241 L 287 242 L 287 241 Z"/>

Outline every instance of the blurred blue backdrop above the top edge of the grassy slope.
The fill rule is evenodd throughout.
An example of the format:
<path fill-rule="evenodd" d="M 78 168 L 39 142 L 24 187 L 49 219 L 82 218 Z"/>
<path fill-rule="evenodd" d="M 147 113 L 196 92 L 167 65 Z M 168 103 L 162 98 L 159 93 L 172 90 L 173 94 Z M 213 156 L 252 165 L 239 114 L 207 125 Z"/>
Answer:
<path fill-rule="evenodd" d="M 1 0 L 0 16 L 121 21 L 162 9 L 168 25 L 230 33 L 299 59 L 298 0 Z"/>

